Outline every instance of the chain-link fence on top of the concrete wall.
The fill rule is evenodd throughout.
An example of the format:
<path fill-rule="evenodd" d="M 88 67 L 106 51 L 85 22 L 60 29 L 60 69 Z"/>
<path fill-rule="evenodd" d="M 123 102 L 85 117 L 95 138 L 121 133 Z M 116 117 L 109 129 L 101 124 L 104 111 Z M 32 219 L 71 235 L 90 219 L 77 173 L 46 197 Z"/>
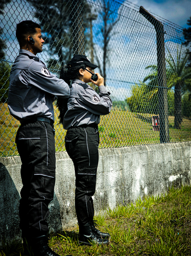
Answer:
<path fill-rule="evenodd" d="M 57 73 L 73 54 L 98 65 L 111 92 L 112 111 L 99 124 L 100 147 L 175 143 L 191 139 L 190 51 L 183 30 L 144 8 L 120 0 L 7 0 L 1 14 L 1 156 L 17 155 L 16 130 L 9 115 L 9 73 L 19 44 L 16 24 L 41 25 L 39 54 Z M 10 2 L 11 1 L 11 2 Z M 55 105 L 56 150 L 64 150 L 65 130 Z"/>

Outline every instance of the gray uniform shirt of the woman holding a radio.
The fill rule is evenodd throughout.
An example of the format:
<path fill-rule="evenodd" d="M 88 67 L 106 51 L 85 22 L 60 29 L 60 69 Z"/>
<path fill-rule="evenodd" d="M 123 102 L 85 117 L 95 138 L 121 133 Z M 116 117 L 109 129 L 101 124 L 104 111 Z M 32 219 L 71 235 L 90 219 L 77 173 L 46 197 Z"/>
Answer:
<path fill-rule="evenodd" d="M 99 94 L 85 82 L 79 79 L 73 81 L 68 99 L 68 110 L 63 121 L 64 129 L 83 124 L 98 124 L 100 115 L 110 113 L 112 107 L 110 92 L 105 86 L 99 86 L 98 89 Z"/>

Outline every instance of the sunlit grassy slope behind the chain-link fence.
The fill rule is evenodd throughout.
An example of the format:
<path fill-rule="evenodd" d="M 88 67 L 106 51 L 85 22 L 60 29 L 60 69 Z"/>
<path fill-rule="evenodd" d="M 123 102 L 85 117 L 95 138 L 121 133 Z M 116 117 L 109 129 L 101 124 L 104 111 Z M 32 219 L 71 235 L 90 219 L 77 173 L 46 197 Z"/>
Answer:
<path fill-rule="evenodd" d="M 16 130 L 20 122 L 9 115 L 7 104 L 0 104 L 0 157 L 18 155 L 15 144 Z M 152 115 L 112 109 L 102 116 L 99 124 L 100 148 L 159 144 L 159 132 L 153 131 Z M 58 110 L 55 107 L 55 146 L 56 151 L 65 150 L 66 130 L 59 124 Z M 174 128 L 174 117 L 169 116 L 170 142 L 191 141 L 191 120 L 183 118 L 181 129 Z"/>

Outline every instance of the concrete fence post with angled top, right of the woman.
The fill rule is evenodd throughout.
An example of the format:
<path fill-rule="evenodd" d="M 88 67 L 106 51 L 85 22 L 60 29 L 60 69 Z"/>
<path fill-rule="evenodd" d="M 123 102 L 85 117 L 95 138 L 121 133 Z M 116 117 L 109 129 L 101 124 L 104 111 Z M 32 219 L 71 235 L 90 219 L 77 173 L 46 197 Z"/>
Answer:
<path fill-rule="evenodd" d="M 169 117 L 168 99 L 166 88 L 166 64 L 164 47 L 164 26 L 142 6 L 139 9 L 142 14 L 154 26 L 157 34 L 157 66 L 158 66 L 158 109 L 160 124 L 160 143 L 169 143 Z"/>

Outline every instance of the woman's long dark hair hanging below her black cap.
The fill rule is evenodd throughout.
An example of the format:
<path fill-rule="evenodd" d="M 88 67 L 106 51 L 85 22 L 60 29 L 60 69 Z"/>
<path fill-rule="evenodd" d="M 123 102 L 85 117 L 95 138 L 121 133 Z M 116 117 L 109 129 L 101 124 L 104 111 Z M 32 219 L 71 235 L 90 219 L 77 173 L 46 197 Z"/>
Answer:
<path fill-rule="evenodd" d="M 67 64 L 64 67 L 62 67 L 61 75 L 59 76 L 59 78 L 63 79 L 70 86 L 71 80 L 79 78 L 80 76 L 79 70 L 80 69 L 84 70 L 85 67 L 86 65 L 84 64 L 76 67 L 70 67 Z M 59 110 L 59 123 L 63 123 L 64 115 L 68 110 L 67 103 L 68 103 L 68 98 L 57 99 L 56 105 Z"/>

